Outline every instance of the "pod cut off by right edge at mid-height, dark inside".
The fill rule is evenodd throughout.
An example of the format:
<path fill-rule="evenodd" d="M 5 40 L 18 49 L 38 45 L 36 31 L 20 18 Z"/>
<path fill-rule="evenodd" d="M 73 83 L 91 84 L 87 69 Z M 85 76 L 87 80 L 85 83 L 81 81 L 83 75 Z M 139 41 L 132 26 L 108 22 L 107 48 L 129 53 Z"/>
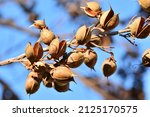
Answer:
<path fill-rule="evenodd" d="M 145 50 L 142 55 L 142 65 L 150 67 L 150 49 Z"/>

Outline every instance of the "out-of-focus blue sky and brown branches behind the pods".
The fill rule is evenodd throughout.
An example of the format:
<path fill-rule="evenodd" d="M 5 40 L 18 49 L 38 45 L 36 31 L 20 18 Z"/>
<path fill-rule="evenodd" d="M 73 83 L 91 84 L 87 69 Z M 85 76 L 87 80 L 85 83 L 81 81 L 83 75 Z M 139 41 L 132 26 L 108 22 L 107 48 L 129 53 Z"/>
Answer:
<path fill-rule="evenodd" d="M 137 0 L 93 0 L 102 10 L 110 5 L 119 13 L 120 25 L 114 30 L 123 29 L 133 16 L 148 17 Z M 22 54 L 28 42 L 37 41 L 39 31 L 29 28 L 35 19 L 45 19 L 48 27 L 61 39 L 71 40 L 76 30 L 83 24 L 90 26 L 95 19 L 86 16 L 80 9 L 86 0 L 0 0 L 0 61 Z M 95 71 L 84 64 L 74 69 L 80 77 L 75 77 L 70 89 L 59 93 L 42 84 L 30 97 L 25 91 L 25 81 L 29 73 L 20 63 L 0 66 L 0 99 L 21 100 L 103 100 L 103 99 L 150 99 L 150 68 L 141 66 L 142 53 L 150 48 L 150 37 L 136 39 L 134 46 L 118 35 L 107 40 L 117 61 L 117 71 L 109 77 L 103 76 L 102 62 L 109 55 L 97 48 L 98 61 Z"/>

